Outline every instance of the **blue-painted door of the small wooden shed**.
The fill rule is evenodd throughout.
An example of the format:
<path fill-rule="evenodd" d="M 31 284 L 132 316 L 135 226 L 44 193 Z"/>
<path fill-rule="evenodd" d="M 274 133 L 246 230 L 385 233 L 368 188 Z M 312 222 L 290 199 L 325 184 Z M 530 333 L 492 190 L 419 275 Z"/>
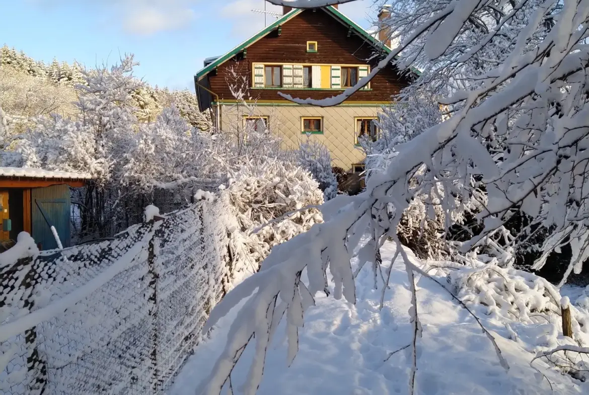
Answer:
<path fill-rule="evenodd" d="M 51 227 L 55 227 L 63 247 L 70 247 L 70 188 L 52 185 L 31 190 L 32 237 L 42 250 L 58 248 Z"/>

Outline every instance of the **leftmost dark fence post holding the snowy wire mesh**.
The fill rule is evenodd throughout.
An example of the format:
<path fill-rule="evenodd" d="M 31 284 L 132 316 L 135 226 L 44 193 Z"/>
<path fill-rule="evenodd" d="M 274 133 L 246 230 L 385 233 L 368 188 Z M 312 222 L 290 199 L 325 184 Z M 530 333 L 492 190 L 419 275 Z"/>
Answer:
<path fill-rule="evenodd" d="M 35 305 L 33 299 L 35 283 L 38 278 L 41 278 L 41 275 L 35 270 L 32 257 L 19 260 L 17 265 L 22 265 L 23 267 L 29 266 L 27 274 L 25 274 L 25 277 L 22 279 L 21 287 L 25 288 L 23 308 L 31 311 Z M 35 327 L 25 330 L 25 344 L 27 349 L 27 370 L 31 375 L 29 391 L 31 394 L 42 394 L 44 393 L 45 385 L 47 384 L 47 366 L 45 365 L 45 361 L 39 356 L 37 331 L 35 330 Z"/>

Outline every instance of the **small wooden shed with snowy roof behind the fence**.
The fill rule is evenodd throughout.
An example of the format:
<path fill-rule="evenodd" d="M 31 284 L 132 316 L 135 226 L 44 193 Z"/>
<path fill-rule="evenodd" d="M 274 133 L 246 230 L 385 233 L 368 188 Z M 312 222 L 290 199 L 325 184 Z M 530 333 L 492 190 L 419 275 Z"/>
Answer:
<path fill-rule="evenodd" d="M 0 244 L 11 247 L 22 231 L 41 250 L 70 247 L 70 187 L 84 187 L 90 175 L 34 168 L 0 167 Z M 55 230 L 55 234 L 54 234 Z"/>

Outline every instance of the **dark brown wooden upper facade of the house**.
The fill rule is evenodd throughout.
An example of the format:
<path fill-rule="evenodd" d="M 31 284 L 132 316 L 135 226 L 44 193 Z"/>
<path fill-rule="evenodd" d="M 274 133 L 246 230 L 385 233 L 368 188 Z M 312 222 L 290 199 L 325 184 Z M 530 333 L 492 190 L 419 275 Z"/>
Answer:
<path fill-rule="evenodd" d="M 307 41 L 317 41 L 317 52 L 307 52 Z M 375 54 L 375 47 L 357 32 L 342 24 L 324 9 L 307 9 L 284 22 L 279 29 L 259 39 L 242 53 L 219 65 L 200 84 L 210 89 L 221 101 L 233 100 L 228 81 L 230 69 L 247 77 L 250 87 L 253 81 L 254 63 L 283 64 L 369 64 L 374 67 L 378 60 L 367 62 Z M 392 65 L 379 72 L 370 82 L 370 90 L 359 91 L 346 102 L 382 102 L 409 84 L 409 76 L 399 73 Z M 339 94 L 335 89 L 269 89 L 250 88 L 249 94 L 260 101 L 284 101 L 277 92 L 293 97 L 322 99 Z M 217 98 L 210 97 L 209 101 Z M 201 96 L 200 99 L 203 99 Z M 208 107 L 208 106 L 207 106 Z"/>

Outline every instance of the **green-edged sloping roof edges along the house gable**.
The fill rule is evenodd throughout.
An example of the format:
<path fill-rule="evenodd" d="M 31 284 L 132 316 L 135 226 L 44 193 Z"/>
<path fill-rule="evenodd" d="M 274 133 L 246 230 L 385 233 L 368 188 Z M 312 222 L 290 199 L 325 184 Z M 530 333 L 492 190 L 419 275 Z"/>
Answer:
<path fill-rule="evenodd" d="M 349 19 L 348 16 L 342 14 L 342 12 L 339 11 L 334 6 L 329 5 L 329 6 L 323 7 L 323 9 L 325 9 L 325 11 L 327 11 L 327 14 L 332 15 L 334 18 L 338 19 L 344 25 L 351 28 L 360 37 L 362 37 L 363 39 L 368 41 L 370 44 L 374 45 L 375 47 L 382 48 L 386 54 L 389 54 L 391 52 L 391 48 L 382 44 L 382 42 L 380 42 L 378 39 L 376 39 L 372 34 L 370 34 L 370 32 L 367 32 L 365 29 L 362 28 L 362 26 L 356 24 L 356 22 L 352 21 L 352 19 Z M 219 67 L 219 65 L 223 64 L 224 62 L 228 61 L 229 59 L 233 58 L 235 55 L 239 54 L 239 52 L 243 51 L 244 48 L 247 48 L 250 45 L 254 44 L 254 42 L 258 41 L 259 39 L 263 38 L 264 36 L 266 36 L 267 34 L 272 32 L 275 28 L 277 28 L 277 26 L 284 24 L 284 22 L 289 21 L 290 19 L 294 18 L 294 16 L 299 15 L 303 11 L 304 11 L 304 9 L 296 8 L 296 9 L 293 9 L 292 11 L 288 12 L 287 14 L 284 14 L 282 17 L 280 17 L 279 19 L 274 21 L 272 24 L 266 26 L 266 28 L 264 28 L 262 31 L 257 32 L 251 38 L 249 38 L 246 41 L 242 42 L 241 44 L 237 45 L 237 47 L 231 49 L 231 51 L 227 52 L 223 56 L 220 56 L 219 58 L 217 58 L 215 61 L 213 61 L 210 64 L 206 65 L 205 67 L 201 68 L 194 76 L 195 77 L 194 79 L 196 81 L 200 81 L 200 79 L 203 79 L 207 74 L 209 74 L 210 71 L 212 71 L 216 67 Z M 413 72 L 416 72 L 416 70 L 413 70 Z"/>

